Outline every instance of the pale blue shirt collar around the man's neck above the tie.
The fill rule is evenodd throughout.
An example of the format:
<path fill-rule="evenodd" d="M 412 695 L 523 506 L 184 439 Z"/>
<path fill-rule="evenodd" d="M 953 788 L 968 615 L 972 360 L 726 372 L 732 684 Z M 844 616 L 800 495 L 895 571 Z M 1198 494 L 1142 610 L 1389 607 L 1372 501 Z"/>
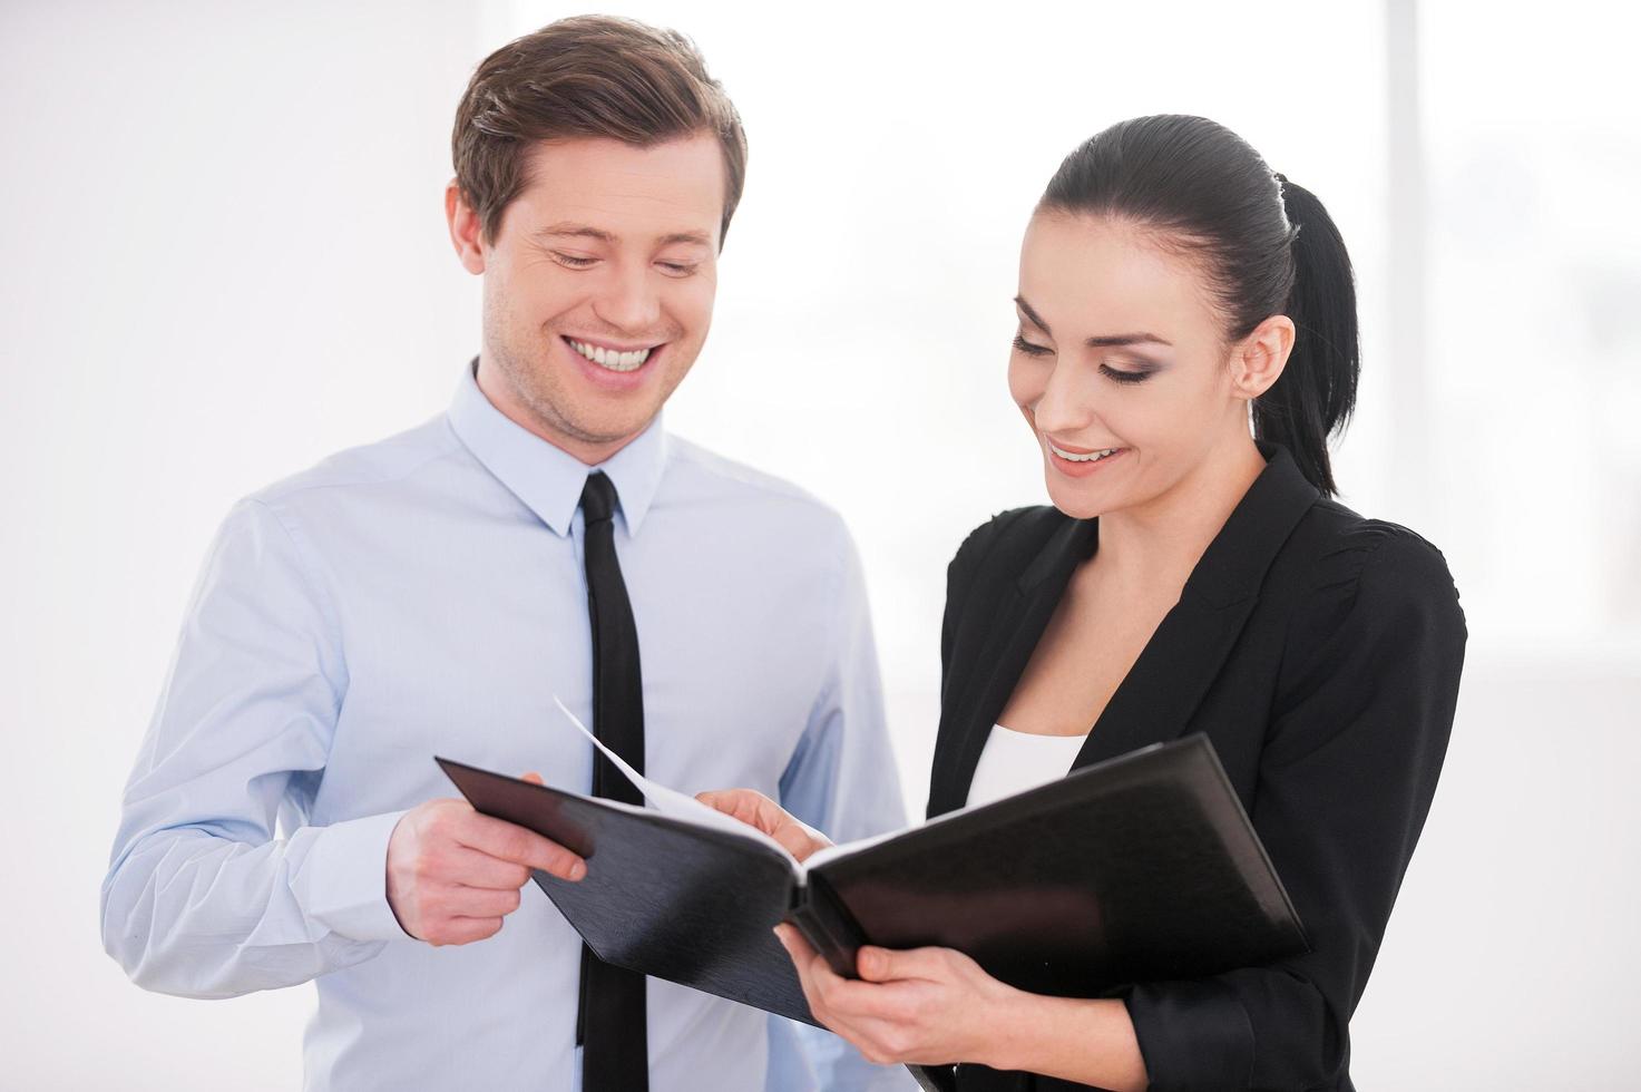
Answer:
<path fill-rule="evenodd" d="M 558 535 L 569 534 L 587 475 L 602 470 L 615 486 L 627 534 L 637 535 L 666 468 L 661 415 L 615 455 L 587 466 L 496 409 L 479 389 L 476 366 L 478 358 L 461 369 L 450 402 L 450 427 L 473 457 Z"/>

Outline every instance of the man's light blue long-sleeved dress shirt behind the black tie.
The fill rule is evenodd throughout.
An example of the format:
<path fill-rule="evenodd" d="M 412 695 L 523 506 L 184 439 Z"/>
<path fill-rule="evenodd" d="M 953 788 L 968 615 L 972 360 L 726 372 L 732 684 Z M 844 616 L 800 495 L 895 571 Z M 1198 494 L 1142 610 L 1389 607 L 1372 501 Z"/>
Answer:
<path fill-rule="evenodd" d="M 903 826 L 839 516 L 660 420 L 602 470 L 620 496 L 647 772 L 757 788 L 834 839 Z M 185 997 L 315 982 L 313 1090 L 579 1085 L 581 941 L 548 898 L 528 885 L 497 936 L 433 947 L 399 928 L 384 862 L 407 808 L 455 795 L 435 754 L 589 790 L 591 747 L 553 706 L 591 723 L 586 475 L 469 368 L 446 414 L 235 506 L 103 883 L 103 944 L 135 982 Z M 655 1092 L 909 1082 L 670 982 L 648 980 L 648 1007 Z"/>

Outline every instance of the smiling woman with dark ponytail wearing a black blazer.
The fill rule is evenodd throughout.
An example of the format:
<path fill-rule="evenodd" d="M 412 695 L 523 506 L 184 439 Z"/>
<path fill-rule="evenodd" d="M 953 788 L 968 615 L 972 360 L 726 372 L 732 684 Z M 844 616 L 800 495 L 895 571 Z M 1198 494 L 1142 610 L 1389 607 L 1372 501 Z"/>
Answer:
<path fill-rule="evenodd" d="M 1429 542 L 1331 499 L 1357 381 L 1344 243 L 1229 130 L 1134 118 L 1049 182 L 1014 302 L 1009 391 L 1054 506 L 952 560 L 929 814 L 1206 732 L 1311 951 L 1083 1000 L 948 949 L 866 947 L 842 979 L 783 943 L 822 1023 L 876 1061 L 962 1062 L 957 1089 L 1351 1089 L 1465 624 Z M 817 846 L 755 793 L 704 796 Z"/>

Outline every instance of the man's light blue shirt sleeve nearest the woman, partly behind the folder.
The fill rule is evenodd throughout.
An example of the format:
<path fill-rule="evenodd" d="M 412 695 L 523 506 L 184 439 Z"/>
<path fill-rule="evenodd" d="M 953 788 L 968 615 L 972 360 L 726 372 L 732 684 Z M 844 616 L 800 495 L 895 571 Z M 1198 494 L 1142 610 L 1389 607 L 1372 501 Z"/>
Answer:
<path fill-rule="evenodd" d="M 781 775 L 781 806 L 835 842 L 906 826 L 899 772 L 883 714 L 883 685 L 860 557 L 839 525 L 837 586 L 825 673 L 809 724 Z M 770 1092 L 916 1089 L 904 1066 L 868 1062 L 845 1039 L 771 1016 Z M 801 1048 L 801 1056 L 794 1049 Z"/>

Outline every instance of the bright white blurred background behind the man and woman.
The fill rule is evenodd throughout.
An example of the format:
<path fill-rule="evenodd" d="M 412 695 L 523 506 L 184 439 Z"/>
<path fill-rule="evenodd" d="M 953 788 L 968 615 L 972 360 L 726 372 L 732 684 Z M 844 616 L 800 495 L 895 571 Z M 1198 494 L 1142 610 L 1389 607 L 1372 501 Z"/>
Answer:
<path fill-rule="evenodd" d="M 102 954 L 120 788 L 231 501 L 446 404 L 478 346 L 440 204 L 455 105 L 568 13 L 0 7 L 0 1087 L 299 1085 L 310 990 L 158 997 Z M 848 519 L 914 811 L 945 562 L 1045 499 L 1004 360 L 1058 159 L 1204 113 L 1321 195 L 1364 320 L 1344 501 L 1442 547 L 1470 622 L 1352 1071 L 1641 1081 L 1634 28 L 1593 0 L 622 13 L 689 33 L 752 141 L 668 424 Z"/>

